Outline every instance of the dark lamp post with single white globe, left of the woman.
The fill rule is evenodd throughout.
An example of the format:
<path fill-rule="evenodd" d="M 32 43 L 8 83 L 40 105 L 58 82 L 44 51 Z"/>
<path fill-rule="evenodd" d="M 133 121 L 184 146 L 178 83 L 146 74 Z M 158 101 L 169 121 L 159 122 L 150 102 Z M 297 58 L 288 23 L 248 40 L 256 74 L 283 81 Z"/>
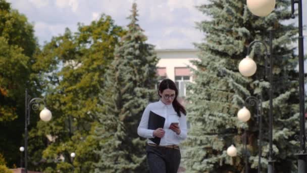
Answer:
<path fill-rule="evenodd" d="M 46 108 L 46 104 L 41 98 L 31 98 L 28 95 L 28 90 L 25 92 L 25 172 L 28 173 L 28 125 L 30 125 L 30 111 L 38 110 L 39 103 L 44 104 L 44 109 L 40 112 L 39 117 L 43 121 L 49 121 L 52 118 L 52 113 Z"/>

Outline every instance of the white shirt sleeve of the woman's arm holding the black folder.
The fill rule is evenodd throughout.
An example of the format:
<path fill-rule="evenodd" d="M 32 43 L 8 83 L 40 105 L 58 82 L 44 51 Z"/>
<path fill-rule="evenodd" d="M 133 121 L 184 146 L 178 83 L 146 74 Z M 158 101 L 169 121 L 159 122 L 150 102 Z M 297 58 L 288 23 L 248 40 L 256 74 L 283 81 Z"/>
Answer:
<path fill-rule="evenodd" d="M 137 127 L 137 134 L 143 138 L 154 138 L 154 130 L 148 129 L 149 105 L 145 108 L 141 121 Z"/>

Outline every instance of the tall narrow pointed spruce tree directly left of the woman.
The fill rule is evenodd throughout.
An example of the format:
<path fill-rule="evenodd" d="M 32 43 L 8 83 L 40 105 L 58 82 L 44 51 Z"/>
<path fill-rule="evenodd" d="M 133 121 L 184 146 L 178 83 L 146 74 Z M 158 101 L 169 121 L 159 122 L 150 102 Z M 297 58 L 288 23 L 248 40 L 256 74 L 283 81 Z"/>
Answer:
<path fill-rule="evenodd" d="M 100 93 L 99 162 L 95 172 L 143 172 L 146 170 L 145 141 L 137 135 L 142 112 L 156 95 L 154 46 L 137 24 L 133 3 L 127 34 L 115 50 L 115 59 L 106 73 L 106 86 Z"/>

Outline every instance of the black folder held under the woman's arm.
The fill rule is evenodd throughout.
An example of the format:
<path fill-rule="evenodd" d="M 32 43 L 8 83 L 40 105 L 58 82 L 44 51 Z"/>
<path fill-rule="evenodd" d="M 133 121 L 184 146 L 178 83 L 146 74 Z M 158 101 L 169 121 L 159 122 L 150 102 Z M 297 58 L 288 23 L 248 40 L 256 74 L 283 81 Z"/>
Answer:
<path fill-rule="evenodd" d="M 149 113 L 149 119 L 148 119 L 148 129 L 157 129 L 157 128 L 163 128 L 165 123 L 165 118 L 156 114 L 155 112 L 150 111 Z M 160 145 L 161 138 L 155 137 L 155 138 L 149 138 L 152 142 L 154 142 L 157 145 Z"/>

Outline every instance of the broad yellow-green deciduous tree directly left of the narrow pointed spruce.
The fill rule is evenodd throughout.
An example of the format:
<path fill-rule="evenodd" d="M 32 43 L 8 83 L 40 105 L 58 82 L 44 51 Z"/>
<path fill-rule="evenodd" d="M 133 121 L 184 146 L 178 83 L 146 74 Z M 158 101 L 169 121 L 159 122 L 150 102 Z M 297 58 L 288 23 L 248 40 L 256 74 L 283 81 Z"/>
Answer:
<path fill-rule="evenodd" d="M 124 30 L 107 15 L 78 26 L 75 33 L 67 28 L 53 37 L 37 55 L 35 67 L 48 69 L 43 86 L 53 119 L 32 129 L 29 153 L 31 167 L 45 172 L 72 171 L 73 165 L 75 172 L 88 172 L 97 160 L 93 151 L 98 142 L 90 135 L 97 121 L 97 93 Z"/>

